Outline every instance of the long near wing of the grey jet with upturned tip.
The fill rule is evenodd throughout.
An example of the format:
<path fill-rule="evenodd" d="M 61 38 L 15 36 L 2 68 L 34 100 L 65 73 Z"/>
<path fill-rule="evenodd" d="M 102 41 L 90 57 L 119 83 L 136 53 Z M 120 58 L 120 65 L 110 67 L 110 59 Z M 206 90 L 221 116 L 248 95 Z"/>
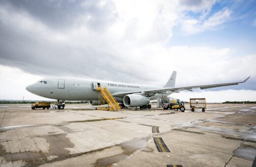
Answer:
<path fill-rule="evenodd" d="M 208 89 L 213 87 L 221 87 L 221 86 L 230 86 L 230 85 L 236 85 L 239 83 L 245 83 L 250 77 L 248 77 L 243 82 L 236 82 L 236 83 L 219 83 L 219 84 L 206 84 L 206 85 L 198 85 L 198 86 L 186 86 L 186 87 L 163 87 L 158 89 L 149 89 L 149 90 L 138 90 L 138 91 L 130 91 L 130 92 L 116 92 L 113 93 L 113 96 L 116 97 L 124 97 L 127 94 L 133 94 L 133 93 L 141 93 L 143 94 L 149 94 L 149 96 L 153 96 L 156 93 L 168 93 L 168 92 L 175 92 L 178 93 L 181 90 L 189 90 L 192 91 L 194 88 L 200 88 L 200 89 Z"/>

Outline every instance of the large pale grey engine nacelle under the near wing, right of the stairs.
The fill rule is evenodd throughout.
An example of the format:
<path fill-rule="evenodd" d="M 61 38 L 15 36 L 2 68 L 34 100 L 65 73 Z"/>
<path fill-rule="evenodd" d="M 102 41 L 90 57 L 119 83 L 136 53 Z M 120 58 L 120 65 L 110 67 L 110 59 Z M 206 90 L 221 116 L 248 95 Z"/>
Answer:
<path fill-rule="evenodd" d="M 125 95 L 123 102 L 126 107 L 139 107 L 148 105 L 150 100 L 148 97 L 139 94 L 128 94 Z"/>

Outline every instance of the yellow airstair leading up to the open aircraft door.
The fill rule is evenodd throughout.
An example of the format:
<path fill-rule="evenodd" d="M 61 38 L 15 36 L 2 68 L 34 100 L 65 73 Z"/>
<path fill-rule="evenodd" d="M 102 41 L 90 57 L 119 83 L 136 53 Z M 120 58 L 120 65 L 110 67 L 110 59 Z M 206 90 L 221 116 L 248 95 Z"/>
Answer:
<path fill-rule="evenodd" d="M 107 111 L 118 111 L 121 110 L 121 107 L 119 106 L 118 102 L 116 101 L 116 99 L 111 95 L 111 93 L 108 91 L 108 89 L 106 87 L 104 87 L 103 89 L 101 88 L 101 86 L 97 87 L 97 91 L 99 91 L 101 93 L 101 95 L 99 94 L 98 96 L 98 105 L 99 106 L 103 106 L 104 104 L 106 104 L 105 102 L 107 102 L 110 107 L 102 107 L 102 108 L 97 108 L 99 110 L 107 110 Z"/>

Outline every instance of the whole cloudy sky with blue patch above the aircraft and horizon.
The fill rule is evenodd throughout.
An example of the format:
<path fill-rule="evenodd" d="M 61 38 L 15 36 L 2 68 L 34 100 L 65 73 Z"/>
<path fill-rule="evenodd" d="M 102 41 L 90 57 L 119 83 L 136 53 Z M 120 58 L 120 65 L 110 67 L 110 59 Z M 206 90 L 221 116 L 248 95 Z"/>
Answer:
<path fill-rule="evenodd" d="M 256 101 L 255 0 L 0 0 L 0 99 L 44 99 L 47 77 L 161 86 L 243 81 L 173 96 Z"/>

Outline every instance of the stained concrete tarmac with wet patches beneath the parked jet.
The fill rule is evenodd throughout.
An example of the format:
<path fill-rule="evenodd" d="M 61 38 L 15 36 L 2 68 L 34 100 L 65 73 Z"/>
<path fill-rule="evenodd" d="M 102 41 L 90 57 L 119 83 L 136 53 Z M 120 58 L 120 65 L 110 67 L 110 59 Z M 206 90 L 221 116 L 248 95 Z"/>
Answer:
<path fill-rule="evenodd" d="M 208 104 L 205 112 L 185 107 L 0 105 L 0 166 L 252 167 L 256 105 Z"/>

